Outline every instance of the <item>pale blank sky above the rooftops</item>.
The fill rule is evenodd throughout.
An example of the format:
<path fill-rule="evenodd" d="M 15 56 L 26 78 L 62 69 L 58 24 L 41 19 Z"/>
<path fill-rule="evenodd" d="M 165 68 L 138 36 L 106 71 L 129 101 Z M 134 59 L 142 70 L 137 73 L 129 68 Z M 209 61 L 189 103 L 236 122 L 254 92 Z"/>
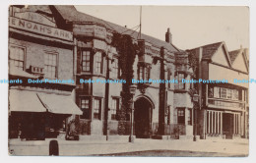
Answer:
<path fill-rule="evenodd" d="M 75 6 L 80 12 L 111 23 L 136 27 L 140 24 L 139 6 Z M 167 27 L 172 42 L 180 49 L 224 41 L 227 50 L 249 47 L 249 8 L 143 6 L 142 32 L 161 40 Z"/>

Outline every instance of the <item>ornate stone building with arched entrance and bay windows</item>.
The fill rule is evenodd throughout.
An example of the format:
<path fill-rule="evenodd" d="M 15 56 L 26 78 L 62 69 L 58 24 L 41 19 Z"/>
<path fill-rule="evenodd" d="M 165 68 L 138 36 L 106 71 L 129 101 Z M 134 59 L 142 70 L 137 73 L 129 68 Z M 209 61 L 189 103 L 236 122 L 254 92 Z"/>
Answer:
<path fill-rule="evenodd" d="M 74 52 L 77 55 L 76 102 L 84 112 L 80 116 L 81 135 L 103 136 L 106 131 L 110 136 L 119 135 L 118 113 L 122 107 L 122 84 L 125 83 L 80 82 L 122 80 L 118 63 L 120 54 L 111 45 L 113 33 L 118 32 L 131 35 L 140 48 L 141 55 L 136 55 L 133 64 L 134 80 L 155 81 L 135 83 L 135 136 L 193 136 L 190 84 L 175 82 L 189 80 L 193 72 L 189 69 L 186 52 L 172 44 L 169 29 L 165 33 L 165 41 L 145 34 L 138 38 L 140 33 L 137 31 L 80 13 L 73 6 L 54 6 L 54 12 L 65 24 L 63 27 L 74 33 Z M 169 82 L 157 82 L 160 80 Z M 125 134 L 122 135 L 130 134 L 129 110 L 126 111 L 126 117 Z"/>

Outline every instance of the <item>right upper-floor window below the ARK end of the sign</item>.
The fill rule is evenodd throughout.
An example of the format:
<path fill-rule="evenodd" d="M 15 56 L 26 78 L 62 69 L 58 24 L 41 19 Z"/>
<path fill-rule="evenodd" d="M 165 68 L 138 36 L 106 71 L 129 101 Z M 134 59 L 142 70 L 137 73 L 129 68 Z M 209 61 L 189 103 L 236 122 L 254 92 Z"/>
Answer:
<path fill-rule="evenodd" d="M 44 77 L 48 79 L 57 78 L 57 54 L 44 54 Z"/>

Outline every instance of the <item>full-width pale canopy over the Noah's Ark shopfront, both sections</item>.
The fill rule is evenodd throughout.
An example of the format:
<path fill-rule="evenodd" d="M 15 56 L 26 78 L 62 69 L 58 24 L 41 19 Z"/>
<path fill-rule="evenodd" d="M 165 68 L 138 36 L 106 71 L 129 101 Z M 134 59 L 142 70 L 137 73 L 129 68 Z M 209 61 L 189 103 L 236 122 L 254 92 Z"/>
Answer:
<path fill-rule="evenodd" d="M 9 101 L 12 112 L 48 111 L 55 114 L 83 114 L 70 95 L 10 89 Z"/>

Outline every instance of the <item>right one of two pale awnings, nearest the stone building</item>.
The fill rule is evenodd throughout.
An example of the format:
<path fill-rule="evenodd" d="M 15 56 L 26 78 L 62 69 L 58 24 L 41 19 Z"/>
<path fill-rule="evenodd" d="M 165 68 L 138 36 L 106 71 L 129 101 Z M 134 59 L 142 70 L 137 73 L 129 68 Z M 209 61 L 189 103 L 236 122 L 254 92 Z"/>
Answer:
<path fill-rule="evenodd" d="M 46 109 L 51 113 L 76 115 L 83 114 L 70 95 L 66 96 L 46 93 L 37 93 L 37 95 Z"/>

